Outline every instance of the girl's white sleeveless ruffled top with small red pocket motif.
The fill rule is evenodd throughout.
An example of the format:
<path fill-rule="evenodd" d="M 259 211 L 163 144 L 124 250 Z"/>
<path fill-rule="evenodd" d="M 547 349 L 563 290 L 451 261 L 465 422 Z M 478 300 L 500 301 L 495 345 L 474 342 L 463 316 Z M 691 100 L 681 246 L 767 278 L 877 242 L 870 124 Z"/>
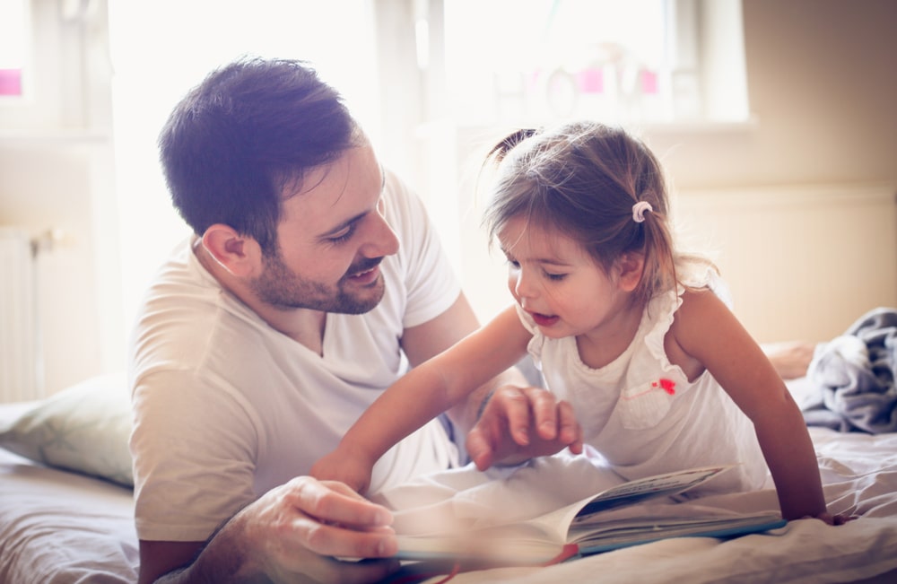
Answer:
<path fill-rule="evenodd" d="M 683 267 L 692 268 L 686 283 L 710 287 L 727 301 L 725 286 L 712 269 Z M 528 350 L 546 388 L 570 402 L 585 442 L 617 473 L 632 480 L 694 466 L 736 464 L 693 494 L 760 489 L 767 468 L 750 419 L 709 371 L 689 381 L 666 356 L 664 336 L 683 292 L 679 286 L 649 301 L 629 347 L 600 369 L 579 359 L 575 337 L 547 338 L 519 307 L 518 313 L 533 334 Z"/>

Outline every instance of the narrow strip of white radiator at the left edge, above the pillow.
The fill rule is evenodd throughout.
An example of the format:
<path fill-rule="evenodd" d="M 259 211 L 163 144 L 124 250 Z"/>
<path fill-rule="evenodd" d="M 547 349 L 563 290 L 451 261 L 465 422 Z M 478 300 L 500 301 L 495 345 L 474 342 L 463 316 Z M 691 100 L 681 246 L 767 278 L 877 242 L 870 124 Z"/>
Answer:
<path fill-rule="evenodd" d="M 28 231 L 0 227 L 0 402 L 43 397 L 34 251 Z"/>

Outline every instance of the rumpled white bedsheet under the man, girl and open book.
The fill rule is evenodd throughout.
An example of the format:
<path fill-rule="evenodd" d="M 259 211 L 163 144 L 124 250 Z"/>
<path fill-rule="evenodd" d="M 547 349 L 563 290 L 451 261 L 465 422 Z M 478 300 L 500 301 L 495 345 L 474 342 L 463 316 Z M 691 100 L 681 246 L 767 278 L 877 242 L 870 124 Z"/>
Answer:
<path fill-rule="evenodd" d="M 672 539 L 546 568 L 466 572 L 452 582 L 897 582 L 897 434 L 810 432 L 830 509 L 859 516 L 845 526 L 802 519 L 769 535 Z M 774 506 L 775 495 L 701 503 L 753 510 Z M 134 582 L 132 513 L 126 488 L 0 449 L 0 582 Z"/>

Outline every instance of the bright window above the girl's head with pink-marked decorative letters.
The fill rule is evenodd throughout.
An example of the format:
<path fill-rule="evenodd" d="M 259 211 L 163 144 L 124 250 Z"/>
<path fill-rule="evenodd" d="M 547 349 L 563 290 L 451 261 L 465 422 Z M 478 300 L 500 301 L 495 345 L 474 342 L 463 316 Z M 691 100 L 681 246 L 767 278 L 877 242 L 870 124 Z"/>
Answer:
<path fill-rule="evenodd" d="M 738 0 L 442 4 L 445 106 L 459 124 L 747 118 Z"/>

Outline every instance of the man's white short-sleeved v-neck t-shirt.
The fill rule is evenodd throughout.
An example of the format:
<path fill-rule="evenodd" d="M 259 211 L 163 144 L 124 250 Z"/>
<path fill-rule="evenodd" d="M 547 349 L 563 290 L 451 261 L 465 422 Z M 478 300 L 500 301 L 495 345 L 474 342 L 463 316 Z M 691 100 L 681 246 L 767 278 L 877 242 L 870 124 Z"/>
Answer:
<path fill-rule="evenodd" d="M 385 216 L 400 248 L 386 293 L 362 315 L 327 314 L 323 355 L 222 290 L 186 241 L 138 315 L 130 379 L 135 523 L 146 540 L 205 540 L 248 502 L 307 475 L 407 369 L 399 342 L 460 294 L 420 200 L 392 174 Z M 432 421 L 374 467 L 371 492 L 457 464 Z"/>

